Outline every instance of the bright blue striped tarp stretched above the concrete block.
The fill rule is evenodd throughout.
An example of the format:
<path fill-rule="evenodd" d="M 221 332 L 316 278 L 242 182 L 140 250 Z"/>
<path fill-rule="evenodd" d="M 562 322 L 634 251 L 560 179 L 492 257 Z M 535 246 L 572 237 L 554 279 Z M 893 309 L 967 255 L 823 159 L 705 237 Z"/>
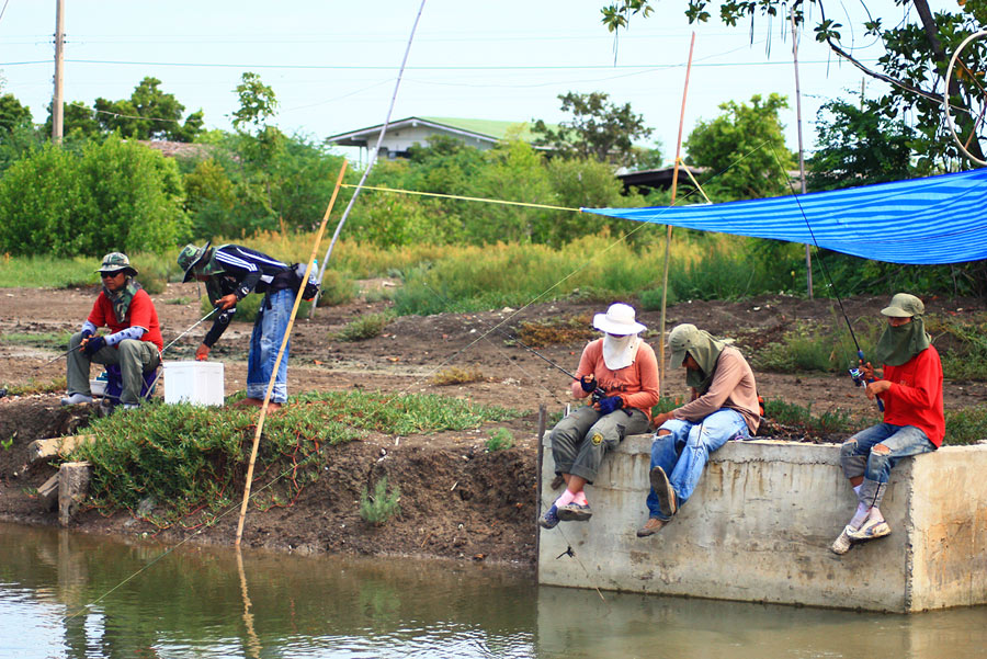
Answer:
<path fill-rule="evenodd" d="M 987 169 L 797 198 L 582 211 L 703 231 L 818 243 L 892 263 L 960 263 L 987 258 Z"/>

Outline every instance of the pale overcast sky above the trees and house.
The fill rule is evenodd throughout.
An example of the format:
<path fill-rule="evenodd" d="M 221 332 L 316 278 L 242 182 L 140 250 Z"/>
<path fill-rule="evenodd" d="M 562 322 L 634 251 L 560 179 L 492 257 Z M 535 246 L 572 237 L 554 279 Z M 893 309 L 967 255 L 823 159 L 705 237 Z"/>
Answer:
<path fill-rule="evenodd" d="M 54 70 L 55 0 L 3 0 L 0 75 L 3 91 L 46 117 Z M 602 0 L 426 0 L 393 118 L 411 115 L 525 122 L 565 118 L 558 95 L 604 91 L 629 102 L 673 156 L 689 41 L 695 31 L 685 135 L 696 118 L 717 116 L 725 101 L 785 94 L 786 138 L 797 146 L 792 37 L 787 21 L 729 29 L 690 26 L 684 2 L 657 2 L 617 43 L 600 24 Z M 933 0 L 933 9 L 943 0 Z M 275 123 L 322 139 L 384 121 L 420 0 L 281 2 L 66 0 L 67 101 L 128 98 L 145 76 L 162 81 L 206 126 L 229 128 L 234 92 L 245 71 L 259 73 L 281 103 Z M 892 0 L 870 3 L 898 19 Z M 831 16 L 844 25 L 846 9 Z M 873 61 L 877 46 L 862 30 L 843 43 Z M 616 53 L 614 48 L 616 46 Z M 812 34 L 799 41 L 803 133 L 815 140 L 816 110 L 859 92 L 863 76 L 830 55 Z M 869 81 L 866 93 L 881 89 Z"/>

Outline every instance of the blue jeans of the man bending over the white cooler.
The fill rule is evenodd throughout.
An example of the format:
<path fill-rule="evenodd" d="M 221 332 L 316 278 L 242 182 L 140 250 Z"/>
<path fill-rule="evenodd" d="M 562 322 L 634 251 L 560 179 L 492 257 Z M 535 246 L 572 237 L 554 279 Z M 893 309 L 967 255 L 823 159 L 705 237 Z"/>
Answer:
<path fill-rule="evenodd" d="M 271 308 L 266 308 L 266 303 Z M 292 316 L 292 307 L 295 306 L 295 292 L 283 288 L 268 295 L 261 303 L 253 321 L 253 333 L 250 336 L 250 354 L 247 356 L 247 397 L 263 400 L 268 395 L 268 383 L 274 372 L 274 362 L 277 361 L 277 351 L 284 340 L 284 332 Z M 284 356 L 277 367 L 277 377 L 274 379 L 274 391 L 271 394 L 273 402 L 287 401 L 287 355 L 291 341 L 284 349 Z"/>

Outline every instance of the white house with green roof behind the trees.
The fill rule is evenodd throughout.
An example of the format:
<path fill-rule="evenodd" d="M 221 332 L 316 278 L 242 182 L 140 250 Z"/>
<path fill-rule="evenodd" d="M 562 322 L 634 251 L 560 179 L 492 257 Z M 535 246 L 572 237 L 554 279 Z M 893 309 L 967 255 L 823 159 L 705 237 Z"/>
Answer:
<path fill-rule="evenodd" d="M 340 147 L 371 149 L 377 144 L 382 125 L 377 124 L 360 130 L 333 135 L 326 138 L 326 141 Z M 381 143 L 381 152 L 377 154 L 377 157 L 407 158 L 411 145 L 428 146 L 429 139 L 436 135 L 462 139 L 466 146 L 481 150 L 494 148 L 495 145 L 509 137 L 527 143 L 534 140 L 534 135 L 526 122 L 409 116 L 387 124 L 387 132 Z"/>

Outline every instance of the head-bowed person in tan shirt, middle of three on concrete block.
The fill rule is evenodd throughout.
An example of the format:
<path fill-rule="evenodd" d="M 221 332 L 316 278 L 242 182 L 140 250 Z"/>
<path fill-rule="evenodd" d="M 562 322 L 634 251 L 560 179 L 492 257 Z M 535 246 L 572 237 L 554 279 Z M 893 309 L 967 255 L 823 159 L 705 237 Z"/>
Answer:
<path fill-rule="evenodd" d="M 648 520 L 637 531 L 660 531 L 695 490 L 710 454 L 729 440 L 744 440 L 761 422 L 757 383 L 740 351 L 694 325 L 668 334 L 669 366 L 685 368 L 692 400 L 655 417 L 648 474 Z"/>

